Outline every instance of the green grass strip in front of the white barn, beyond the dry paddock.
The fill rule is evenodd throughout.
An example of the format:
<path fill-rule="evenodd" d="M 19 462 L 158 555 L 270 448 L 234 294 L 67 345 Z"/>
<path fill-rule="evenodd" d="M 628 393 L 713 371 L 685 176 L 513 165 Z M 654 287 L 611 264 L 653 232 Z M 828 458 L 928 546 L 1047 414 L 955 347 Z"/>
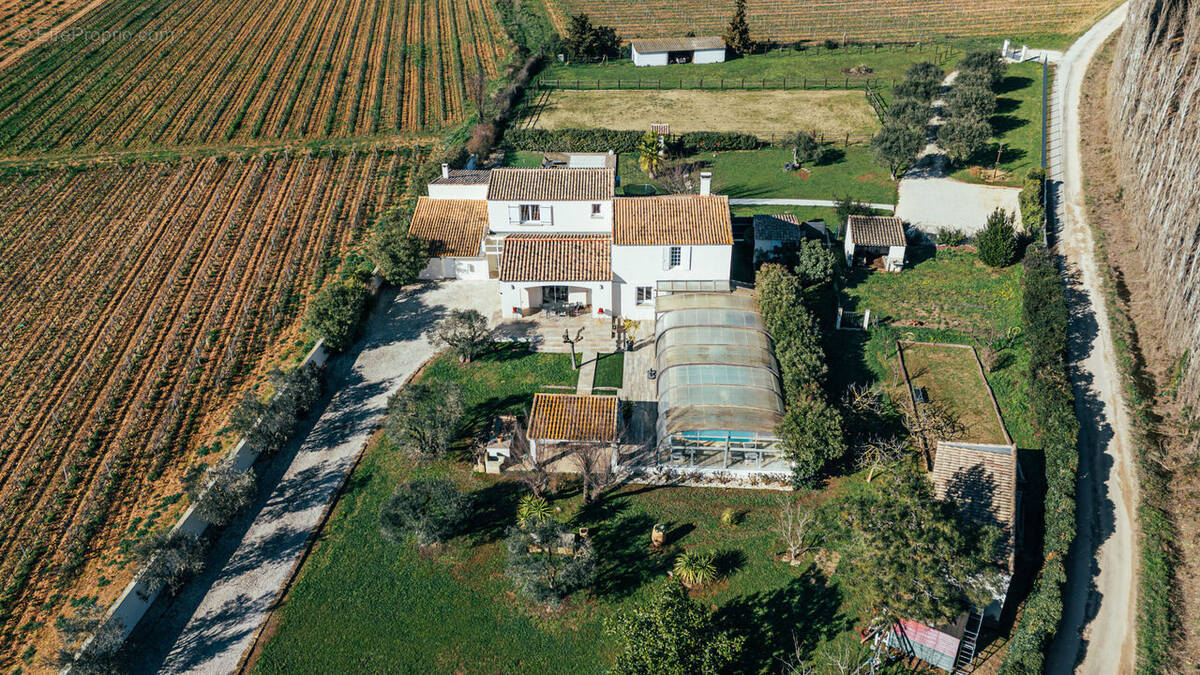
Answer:
<path fill-rule="evenodd" d="M 716 78 L 719 80 L 722 77 L 731 80 L 728 83 L 731 86 L 736 85 L 732 82 L 733 78 L 743 77 L 748 80 L 761 80 L 763 78 L 781 79 L 786 77 L 788 80 L 794 79 L 797 85 L 804 78 L 814 82 L 820 79 L 822 83 L 824 78 L 829 78 L 830 85 L 836 82 L 841 86 L 848 77 L 852 86 L 857 82 L 858 88 L 862 88 L 862 80 L 866 78 L 865 76 L 847 76 L 844 71 L 865 64 L 874 70 L 870 74 L 872 85 L 876 79 L 880 79 L 882 86 L 890 88 L 892 79 L 895 78 L 899 80 L 904 77 L 905 71 L 912 64 L 918 61 L 938 61 L 938 65 L 946 67 L 960 58 L 960 52 L 954 50 L 947 54 L 944 48 L 940 48 L 940 52 L 935 55 L 928 47 L 922 50 L 910 48 L 907 52 L 893 46 L 881 47 L 880 49 L 850 47 L 832 52 L 826 49 L 808 49 L 804 52 L 787 49 L 731 59 L 724 64 L 683 64 L 666 67 L 637 67 L 630 59 L 619 59 L 608 64 L 566 65 L 554 62 L 546 67 L 542 77 L 550 79 L 611 80 L 608 86 L 616 86 L 618 78 L 623 80 L 636 80 L 637 78 L 661 79 L 664 86 L 667 86 L 671 80 L 676 80 L 677 83 L 680 79 L 692 80 L 692 85 L 695 85 L 695 82 L 700 78 L 706 78 L 706 80 Z M 818 86 L 814 82 L 810 82 L 809 86 Z"/>

